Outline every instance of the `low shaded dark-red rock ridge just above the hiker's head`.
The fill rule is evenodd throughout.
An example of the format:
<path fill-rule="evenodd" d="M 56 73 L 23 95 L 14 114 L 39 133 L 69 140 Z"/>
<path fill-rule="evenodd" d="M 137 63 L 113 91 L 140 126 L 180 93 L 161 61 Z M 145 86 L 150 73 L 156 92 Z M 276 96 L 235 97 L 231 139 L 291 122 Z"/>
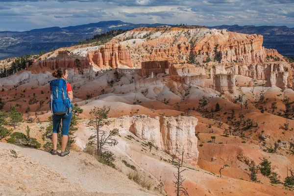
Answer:
<path fill-rule="evenodd" d="M 41 68 L 47 67 L 52 70 L 58 68 L 78 68 L 80 70 L 91 68 L 89 59 L 80 56 L 46 59 L 38 61 L 34 65 L 40 66 Z"/>

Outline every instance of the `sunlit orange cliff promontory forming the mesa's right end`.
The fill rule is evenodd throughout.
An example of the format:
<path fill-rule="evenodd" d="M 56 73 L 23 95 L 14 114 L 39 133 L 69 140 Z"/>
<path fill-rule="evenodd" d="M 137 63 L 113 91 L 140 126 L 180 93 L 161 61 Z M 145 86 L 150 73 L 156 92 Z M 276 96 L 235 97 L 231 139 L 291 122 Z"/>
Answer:
<path fill-rule="evenodd" d="M 210 29 L 210 32 L 196 41 L 193 53 L 202 61 L 216 60 L 256 64 L 265 62 L 266 51 L 262 46 L 262 35 L 247 35 L 226 30 Z M 208 60 L 210 59 L 210 60 Z"/>

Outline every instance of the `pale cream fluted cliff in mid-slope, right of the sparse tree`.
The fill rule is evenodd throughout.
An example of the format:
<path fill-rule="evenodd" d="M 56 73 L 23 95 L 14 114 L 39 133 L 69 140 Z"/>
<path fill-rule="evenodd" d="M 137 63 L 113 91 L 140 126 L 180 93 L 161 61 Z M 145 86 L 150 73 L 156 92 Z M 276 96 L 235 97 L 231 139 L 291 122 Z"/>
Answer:
<path fill-rule="evenodd" d="M 181 154 L 184 149 L 184 160 L 196 165 L 198 159 L 195 117 L 155 117 L 146 115 L 123 116 L 111 119 L 108 129 L 118 128 L 130 131 L 138 138 L 151 142 L 153 146 L 169 154 Z"/>

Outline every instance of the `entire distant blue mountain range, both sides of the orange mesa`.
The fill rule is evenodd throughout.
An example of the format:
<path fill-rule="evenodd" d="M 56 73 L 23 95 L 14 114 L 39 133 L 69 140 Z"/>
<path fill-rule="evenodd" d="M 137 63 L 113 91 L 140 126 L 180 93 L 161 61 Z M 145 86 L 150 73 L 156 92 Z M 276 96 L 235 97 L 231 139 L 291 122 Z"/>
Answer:
<path fill-rule="evenodd" d="M 24 32 L 0 31 L 0 59 L 16 57 L 31 52 L 38 54 L 40 50 L 49 51 L 57 47 L 71 46 L 92 38 L 94 35 L 114 29 L 132 29 L 143 26 L 161 26 L 166 24 L 132 24 L 122 21 L 102 21 L 88 25 L 77 25 L 32 29 Z M 172 25 L 171 25 L 172 26 Z M 277 49 L 285 56 L 294 57 L 294 28 L 286 26 L 239 26 L 221 25 L 209 28 L 223 29 L 246 34 L 264 36 L 266 48 Z"/>

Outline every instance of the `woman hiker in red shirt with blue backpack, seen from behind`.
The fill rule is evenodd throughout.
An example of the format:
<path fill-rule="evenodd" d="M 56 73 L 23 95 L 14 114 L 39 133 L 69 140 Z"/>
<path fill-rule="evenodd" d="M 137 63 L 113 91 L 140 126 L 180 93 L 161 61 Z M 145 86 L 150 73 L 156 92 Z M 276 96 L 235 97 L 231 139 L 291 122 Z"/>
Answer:
<path fill-rule="evenodd" d="M 55 72 L 52 73 L 52 76 L 57 77 L 57 79 L 54 79 L 50 82 L 50 108 L 53 115 L 53 149 L 50 151 L 50 153 L 52 155 L 57 154 L 57 133 L 59 132 L 59 125 L 62 120 L 60 156 L 66 156 L 70 153 L 70 150 L 65 148 L 69 138 L 69 129 L 72 119 L 73 90 L 71 84 L 66 81 L 68 77 L 68 70 L 66 68 L 58 68 Z"/>

